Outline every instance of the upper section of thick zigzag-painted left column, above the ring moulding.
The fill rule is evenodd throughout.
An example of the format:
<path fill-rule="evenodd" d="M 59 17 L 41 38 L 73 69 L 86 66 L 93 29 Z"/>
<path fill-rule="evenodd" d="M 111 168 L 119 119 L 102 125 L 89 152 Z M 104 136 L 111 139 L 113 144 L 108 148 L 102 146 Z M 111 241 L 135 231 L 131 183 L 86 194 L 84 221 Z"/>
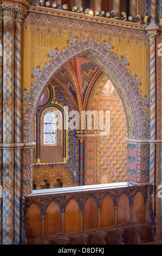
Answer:
<path fill-rule="evenodd" d="M 3 23 L 3 143 L 14 143 L 15 24 L 12 19 Z"/>

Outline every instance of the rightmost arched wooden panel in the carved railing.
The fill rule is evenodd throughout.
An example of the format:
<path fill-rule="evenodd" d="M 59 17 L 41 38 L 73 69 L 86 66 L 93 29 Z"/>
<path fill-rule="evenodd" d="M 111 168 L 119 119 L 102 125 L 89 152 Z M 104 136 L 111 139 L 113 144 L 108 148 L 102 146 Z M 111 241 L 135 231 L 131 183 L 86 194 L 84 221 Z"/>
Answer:
<path fill-rule="evenodd" d="M 144 197 L 140 192 L 138 192 L 133 200 L 133 222 L 145 221 L 146 216 L 146 205 L 144 202 Z"/>

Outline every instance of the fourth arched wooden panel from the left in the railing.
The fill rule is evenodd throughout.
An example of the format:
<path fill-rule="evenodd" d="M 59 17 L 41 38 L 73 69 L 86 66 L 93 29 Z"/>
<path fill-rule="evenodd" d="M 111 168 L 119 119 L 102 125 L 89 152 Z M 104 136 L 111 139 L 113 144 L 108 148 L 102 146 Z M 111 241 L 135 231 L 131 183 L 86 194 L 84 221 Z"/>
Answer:
<path fill-rule="evenodd" d="M 89 198 L 84 207 L 83 213 L 83 230 L 98 228 L 98 209 L 93 198 Z"/>

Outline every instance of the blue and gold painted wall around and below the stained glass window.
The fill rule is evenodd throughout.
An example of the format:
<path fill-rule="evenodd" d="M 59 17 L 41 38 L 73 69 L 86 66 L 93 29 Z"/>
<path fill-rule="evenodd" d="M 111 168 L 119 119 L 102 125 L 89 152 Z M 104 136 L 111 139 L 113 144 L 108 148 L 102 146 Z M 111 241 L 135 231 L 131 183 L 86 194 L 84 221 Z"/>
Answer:
<path fill-rule="evenodd" d="M 68 107 L 69 112 L 71 109 L 68 106 L 66 99 L 62 94 L 55 89 L 55 97 L 53 103 L 57 103 L 62 107 Z M 70 120 L 71 118 L 69 118 Z M 62 175 L 64 177 L 64 186 L 76 186 L 79 185 L 79 141 L 75 135 L 74 130 L 68 131 L 68 156 L 64 163 L 47 163 L 47 164 L 34 164 L 33 167 L 33 179 L 37 184 L 37 188 L 40 188 L 40 182 L 44 178 L 48 178 L 51 187 L 54 187 L 54 176 L 56 175 L 57 167 L 62 170 Z M 49 170 L 49 175 L 48 175 Z M 66 170 L 68 170 L 66 174 Z M 65 175 L 65 176 L 64 176 Z M 67 178 L 66 177 L 70 177 Z M 50 188 L 51 188 L 50 187 Z"/>

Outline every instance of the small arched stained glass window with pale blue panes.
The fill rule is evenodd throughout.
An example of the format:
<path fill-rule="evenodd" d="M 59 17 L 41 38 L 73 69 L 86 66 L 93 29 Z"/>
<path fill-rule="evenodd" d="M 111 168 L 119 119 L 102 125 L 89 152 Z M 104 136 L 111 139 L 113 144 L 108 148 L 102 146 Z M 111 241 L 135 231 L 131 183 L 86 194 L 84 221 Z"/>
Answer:
<path fill-rule="evenodd" d="M 56 116 L 54 113 L 44 115 L 44 145 L 56 144 Z"/>

